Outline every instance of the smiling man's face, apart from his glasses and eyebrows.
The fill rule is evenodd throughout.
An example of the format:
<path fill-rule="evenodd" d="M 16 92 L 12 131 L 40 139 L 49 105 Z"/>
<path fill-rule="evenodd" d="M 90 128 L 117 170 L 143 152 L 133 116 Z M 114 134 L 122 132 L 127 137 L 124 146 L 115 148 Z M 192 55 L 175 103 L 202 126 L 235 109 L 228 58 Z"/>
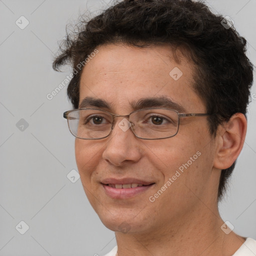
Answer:
<path fill-rule="evenodd" d="M 86 107 L 125 115 L 134 110 L 129 104 L 133 100 L 166 96 L 186 113 L 205 113 L 192 88 L 192 65 L 180 52 L 176 52 L 181 60 L 177 64 L 168 46 L 109 44 L 97 49 L 81 74 L 79 107 L 85 97 L 93 97 L 105 100 L 109 108 Z M 171 72 L 174 67 L 182 71 L 178 79 Z M 122 120 L 116 118 L 106 138 L 75 139 L 84 191 L 106 227 L 150 232 L 184 219 L 200 207 L 198 198 L 210 201 L 216 196 L 211 176 L 213 140 L 205 116 L 180 118 L 175 136 L 155 140 L 137 138 L 130 128 L 123 131 L 118 126 Z M 144 185 L 115 188 L 109 183 Z"/>

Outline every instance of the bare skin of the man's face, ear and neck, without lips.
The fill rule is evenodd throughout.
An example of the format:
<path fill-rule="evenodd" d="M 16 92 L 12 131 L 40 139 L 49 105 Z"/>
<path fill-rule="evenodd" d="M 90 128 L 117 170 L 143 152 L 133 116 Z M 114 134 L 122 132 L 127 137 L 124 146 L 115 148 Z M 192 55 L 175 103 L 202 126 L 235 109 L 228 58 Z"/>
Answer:
<path fill-rule="evenodd" d="M 108 44 L 83 68 L 80 100 L 102 98 L 112 113 L 129 114 L 129 101 L 166 95 L 188 113 L 205 113 L 205 105 L 192 88 L 193 65 L 178 50 L 176 63 L 169 46 L 131 47 Z M 172 79 L 178 67 L 182 76 Z M 84 191 L 103 224 L 115 231 L 117 255 L 231 255 L 244 238 L 225 234 L 217 208 L 221 169 L 229 167 L 241 151 L 246 119 L 236 113 L 220 125 L 215 138 L 206 117 L 180 119 L 170 138 L 144 140 L 122 131 L 116 118 L 110 135 L 98 140 L 75 139 L 75 157 Z M 197 151 L 198 158 L 158 197 L 149 201 L 169 177 Z M 100 180 L 134 177 L 155 184 L 132 198 L 112 199 Z M 122 229 L 121 227 L 126 227 Z"/>

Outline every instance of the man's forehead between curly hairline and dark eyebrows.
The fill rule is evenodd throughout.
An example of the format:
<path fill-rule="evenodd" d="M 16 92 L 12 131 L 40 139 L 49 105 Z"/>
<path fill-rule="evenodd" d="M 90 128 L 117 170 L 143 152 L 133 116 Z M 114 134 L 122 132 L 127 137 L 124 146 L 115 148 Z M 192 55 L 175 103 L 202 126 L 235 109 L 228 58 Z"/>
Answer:
<path fill-rule="evenodd" d="M 93 97 L 107 101 L 109 110 L 126 111 L 134 110 L 131 101 L 165 97 L 183 109 L 204 109 L 192 87 L 193 67 L 179 50 L 177 63 L 169 46 L 108 44 L 97 49 L 82 70 L 79 105 Z"/>

